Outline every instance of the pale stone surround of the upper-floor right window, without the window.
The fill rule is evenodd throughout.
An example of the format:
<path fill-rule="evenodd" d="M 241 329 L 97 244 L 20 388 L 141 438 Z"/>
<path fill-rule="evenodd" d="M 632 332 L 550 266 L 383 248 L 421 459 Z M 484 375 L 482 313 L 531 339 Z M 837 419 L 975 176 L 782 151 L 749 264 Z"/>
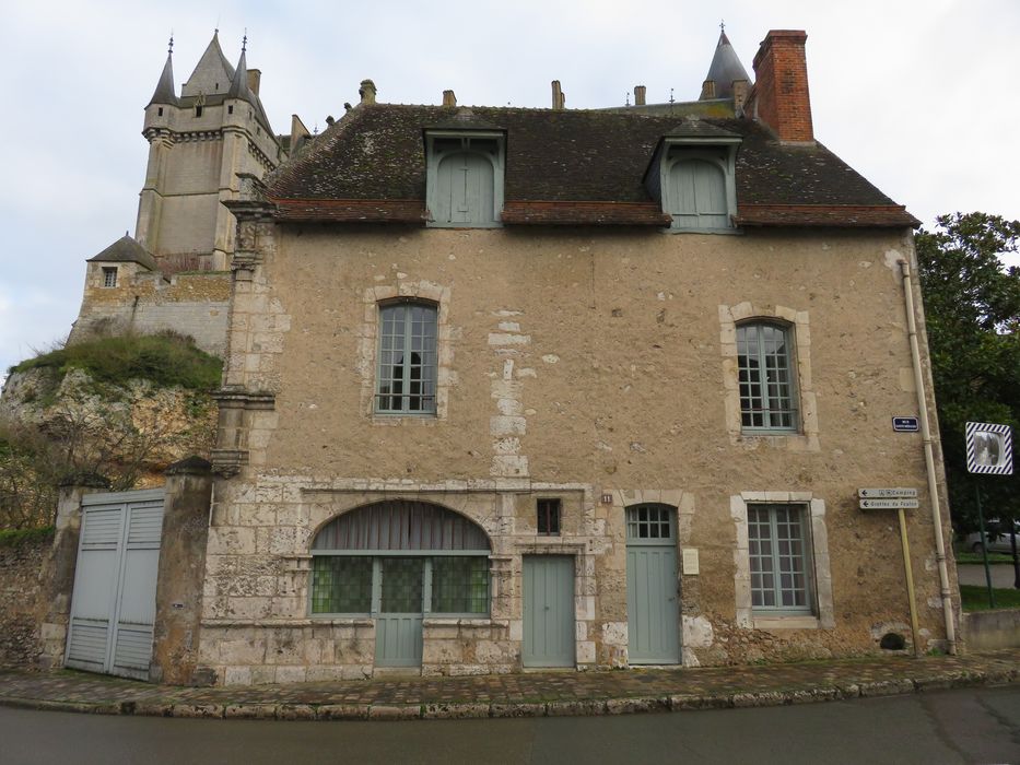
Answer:
<path fill-rule="evenodd" d="M 737 357 L 737 325 L 751 319 L 781 320 L 793 334 L 793 368 L 796 370 L 796 396 L 800 401 L 800 429 L 792 433 L 745 431 L 740 417 L 740 364 Z M 719 344 L 723 354 L 723 388 L 726 431 L 732 445 L 767 444 L 790 451 L 819 451 L 818 404 L 811 379 L 811 331 L 808 311 L 781 305 L 754 305 L 750 302 L 719 306 Z"/>

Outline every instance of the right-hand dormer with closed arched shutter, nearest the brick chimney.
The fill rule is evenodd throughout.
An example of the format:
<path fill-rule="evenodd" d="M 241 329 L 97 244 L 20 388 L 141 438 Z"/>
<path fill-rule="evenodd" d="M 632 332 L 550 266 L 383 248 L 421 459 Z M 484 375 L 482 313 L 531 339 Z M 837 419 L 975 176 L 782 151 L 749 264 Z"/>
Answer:
<path fill-rule="evenodd" d="M 739 143 L 736 136 L 663 139 L 646 184 L 672 216 L 671 231 L 734 233 Z"/>

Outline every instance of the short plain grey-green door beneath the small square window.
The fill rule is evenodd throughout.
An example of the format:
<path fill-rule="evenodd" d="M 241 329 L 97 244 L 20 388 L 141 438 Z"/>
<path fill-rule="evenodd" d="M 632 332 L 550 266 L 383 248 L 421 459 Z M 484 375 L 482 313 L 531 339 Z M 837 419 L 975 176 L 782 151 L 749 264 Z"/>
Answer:
<path fill-rule="evenodd" d="M 574 666 L 574 558 L 524 556 L 525 667 Z"/>

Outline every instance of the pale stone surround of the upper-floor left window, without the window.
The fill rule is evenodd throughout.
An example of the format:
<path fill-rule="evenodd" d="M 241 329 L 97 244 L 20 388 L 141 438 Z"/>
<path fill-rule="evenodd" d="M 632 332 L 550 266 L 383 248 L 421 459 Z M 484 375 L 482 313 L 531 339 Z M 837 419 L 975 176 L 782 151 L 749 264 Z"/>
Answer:
<path fill-rule="evenodd" d="M 362 413 L 377 425 L 401 425 L 408 423 L 434 425 L 448 416 L 449 389 L 453 384 L 454 351 L 450 343 L 449 287 L 427 281 L 401 281 L 396 285 L 368 287 L 362 295 L 364 316 L 357 350 L 357 368 L 361 372 Z M 436 305 L 436 390 L 435 415 L 377 413 L 375 411 L 376 375 L 378 374 L 379 304 L 394 299 L 419 299 Z"/>

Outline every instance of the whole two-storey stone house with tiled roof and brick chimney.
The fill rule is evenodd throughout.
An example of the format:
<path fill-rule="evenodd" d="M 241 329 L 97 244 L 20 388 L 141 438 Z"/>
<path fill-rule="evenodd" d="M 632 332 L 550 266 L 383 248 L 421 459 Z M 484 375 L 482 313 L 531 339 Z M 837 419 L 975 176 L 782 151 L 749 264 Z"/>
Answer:
<path fill-rule="evenodd" d="M 751 84 L 724 35 L 690 103 L 365 81 L 244 176 L 197 673 L 954 648 L 916 221 L 814 139 L 805 40 Z M 868 486 L 917 491 L 912 598 Z"/>

